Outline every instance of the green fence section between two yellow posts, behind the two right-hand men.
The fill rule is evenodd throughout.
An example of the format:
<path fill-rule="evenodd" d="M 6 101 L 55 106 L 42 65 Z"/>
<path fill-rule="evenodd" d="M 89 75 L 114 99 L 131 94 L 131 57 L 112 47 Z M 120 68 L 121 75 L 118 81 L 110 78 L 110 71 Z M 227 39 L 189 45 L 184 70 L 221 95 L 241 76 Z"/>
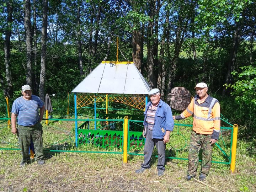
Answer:
<path fill-rule="evenodd" d="M 144 155 L 143 146 L 145 139 L 142 137 L 143 121 L 128 120 L 128 129 L 132 128 L 133 124 L 139 125 L 141 130 L 140 132 L 128 132 L 128 138 L 130 138 L 128 140 L 128 154 Z M 228 125 L 230 124 L 228 123 Z M 167 159 L 187 160 L 191 131 L 192 125 L 190 124 L 175 124 L 174 130 L 170 134 L 170 142 L 166 144 Z M 213 148 L 212 162 L 220 164 L 231 163 L 232 133 L 233 127 L 221 127 L 219 140 Z M 157 157 L 156 149 L 154 150 L 153 155 Z M 201 158 L 202 152 L 199 153 L 199 161 L 201 161 Z"/>

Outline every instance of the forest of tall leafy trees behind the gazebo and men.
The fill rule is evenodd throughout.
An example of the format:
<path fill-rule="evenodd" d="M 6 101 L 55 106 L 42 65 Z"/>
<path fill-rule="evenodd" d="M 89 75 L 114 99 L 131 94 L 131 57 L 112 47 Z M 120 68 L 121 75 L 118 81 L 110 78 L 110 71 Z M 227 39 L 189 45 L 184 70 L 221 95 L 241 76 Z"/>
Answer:
<path fill-rule="evenodd" d="M 0 97 L 66 94 L 102 60 L 133 61 L 163 98 L 206 82 L 241 138 L 256 117 L 251 0 L 0 0 Z M 254 143 L 255 144 L 255 143 Z"/>

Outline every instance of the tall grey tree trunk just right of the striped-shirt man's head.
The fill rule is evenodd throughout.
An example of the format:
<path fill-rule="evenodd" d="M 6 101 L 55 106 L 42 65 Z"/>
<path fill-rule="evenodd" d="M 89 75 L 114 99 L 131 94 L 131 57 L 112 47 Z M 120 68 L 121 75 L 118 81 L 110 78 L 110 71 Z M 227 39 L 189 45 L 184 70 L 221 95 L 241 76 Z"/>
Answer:
<path fill-rule="evenodd" d="M 48 0 L 43 0 L 43 24 L 42 24 L 42 39 L 41 39 L 41 72 L 39 84 L 39 96 L 44 101 L 44 86 L 46 81 L 46 40 L 47 40 L 47 14 Z"/>

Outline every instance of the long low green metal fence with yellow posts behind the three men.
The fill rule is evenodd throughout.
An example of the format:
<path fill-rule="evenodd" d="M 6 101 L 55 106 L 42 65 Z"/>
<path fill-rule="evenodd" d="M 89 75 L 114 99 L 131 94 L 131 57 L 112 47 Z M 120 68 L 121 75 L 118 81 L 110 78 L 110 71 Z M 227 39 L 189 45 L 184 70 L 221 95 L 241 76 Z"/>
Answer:
<path fill-rule="evenodd" d="M 7 98 L 5 98 L 5 105 L 5 114 L 0 117 L 0 123 L 7 122 L 7 126 L 0 127 L 0 150 L 19 150 L 18 140 L 10 130 Z M 145 142 L 142 136 L 143 121 L 128 119 L 128 116 L 124 118 L 122 116 L 122 119 L 95 119 L 84 114 L 77 114 L 77 118 L 69 114 L 65 118 L 47 118 L 44 121 L 48 121 L 48 125 L 43 129 L 44 150 L 46 151 L 122 154 L 124 163 L 128 162 L 129 155 L 143 155 Z M 220 129 L 220 138 L 214 146 L 212 162 L 230 165 L 233 173 L 238 126 L 228 123 L 224 118 L 222 121 L 228 126 Z M 75 123 L 79 125 L 77 130 L 75 130 Z M 187 160 L 191 129 L 192 125 L 185 121 L 175 124 L 174 131 L 170 135 L 170 142 L 166 145 L 167 159 Z M 76 140 L 78 147 L 75 145 Z M 154 155 L 157 157 L 156 151 Z"/>

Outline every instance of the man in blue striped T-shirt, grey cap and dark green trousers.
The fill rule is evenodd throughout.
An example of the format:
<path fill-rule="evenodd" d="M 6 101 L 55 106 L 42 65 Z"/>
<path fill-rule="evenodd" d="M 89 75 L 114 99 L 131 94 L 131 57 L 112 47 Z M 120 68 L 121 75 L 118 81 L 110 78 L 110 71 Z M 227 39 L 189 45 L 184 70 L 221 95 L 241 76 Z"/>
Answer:
<path fill-rule="evenodd" d="M 44 114 L 43 101 L 31 93 L 31 87 L 24 85 L 21 87 L 22 96 L 18 97 L 12 104 L 11 114 L 11 132 L 18 135 L 22 160 L 20 166 L 23 167 L 30 163 L 28 149 L 31 140 L 34 143 L 36 153 L 35 160 L 39 165 L 45 164 L 43 158 L 43 127 L 41 125 Z M 40 115 L 38 114 L 40 109 Z M 16 119 L 18 117 L 18 127 L 16 128 Z"/>

